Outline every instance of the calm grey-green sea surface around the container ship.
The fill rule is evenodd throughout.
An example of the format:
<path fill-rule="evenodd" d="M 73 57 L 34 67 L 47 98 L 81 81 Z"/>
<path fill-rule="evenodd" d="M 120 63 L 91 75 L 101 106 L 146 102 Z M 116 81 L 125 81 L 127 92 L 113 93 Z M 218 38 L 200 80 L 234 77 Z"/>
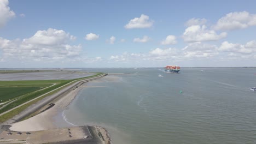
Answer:
<path fill-rule="evenodd" d="M 256 69 L 84 70 L 129 74 L 86 83 L 63 111 L 75 125 L 107 128 L 114 144 L 256 143 Z"/>

